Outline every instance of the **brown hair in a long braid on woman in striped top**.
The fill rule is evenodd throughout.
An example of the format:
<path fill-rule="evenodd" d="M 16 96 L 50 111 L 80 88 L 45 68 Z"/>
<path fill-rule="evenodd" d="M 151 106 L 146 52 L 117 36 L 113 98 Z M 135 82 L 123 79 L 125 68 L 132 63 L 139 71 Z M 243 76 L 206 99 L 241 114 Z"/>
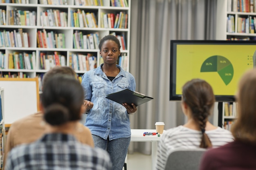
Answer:
<path fill-rule="evenodd" d="M 192 79 L 184 84 L 182 97 L 191 109 L 193 119 L 198 122 L 198 127 L 202 131 L 200 148 L 211 147 L 211 141 L 205 133 L 205 126 L 215 102 L 211 85 L 202 79 Z"/>

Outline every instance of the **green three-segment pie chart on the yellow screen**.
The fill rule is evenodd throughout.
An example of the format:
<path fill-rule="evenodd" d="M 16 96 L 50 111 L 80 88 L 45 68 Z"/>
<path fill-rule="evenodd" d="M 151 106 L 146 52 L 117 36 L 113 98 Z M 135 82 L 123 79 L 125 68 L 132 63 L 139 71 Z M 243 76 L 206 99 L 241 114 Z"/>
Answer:
<path fill-rule="evenodd" d="M 233 78 L 234 68 L 226 57 L 213 55 L 204 60 L 200 72 L 217 72 L 223 82 L 228 85 Z"/>

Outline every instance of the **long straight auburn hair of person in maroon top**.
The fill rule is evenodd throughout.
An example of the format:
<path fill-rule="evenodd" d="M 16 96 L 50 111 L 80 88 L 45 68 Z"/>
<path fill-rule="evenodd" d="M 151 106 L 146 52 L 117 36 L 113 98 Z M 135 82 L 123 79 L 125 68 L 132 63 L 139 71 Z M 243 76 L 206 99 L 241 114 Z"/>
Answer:
<path fill-rule="evenodd" d="M 231 131 L 236 140 L 256 144 L 256 68 L 247 71 L 238 84 L 238 119 Z"/>

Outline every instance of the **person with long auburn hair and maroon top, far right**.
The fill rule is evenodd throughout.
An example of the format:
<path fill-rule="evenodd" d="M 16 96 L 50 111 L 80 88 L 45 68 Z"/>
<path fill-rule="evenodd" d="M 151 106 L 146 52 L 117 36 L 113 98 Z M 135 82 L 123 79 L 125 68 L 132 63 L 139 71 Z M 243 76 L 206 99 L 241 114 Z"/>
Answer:
<path fill-rule="evenodd" d="M 200 170 L 256 170 L 256 69 L 243 75 L 236 100 L 235 141 L 204 153 Z"/>

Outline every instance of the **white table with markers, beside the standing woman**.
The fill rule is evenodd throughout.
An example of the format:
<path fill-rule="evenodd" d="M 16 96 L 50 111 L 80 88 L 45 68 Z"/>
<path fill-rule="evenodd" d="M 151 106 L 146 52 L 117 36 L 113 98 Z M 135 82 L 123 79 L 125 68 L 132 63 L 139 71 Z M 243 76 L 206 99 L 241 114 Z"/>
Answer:
<path fill-rule="evenodd" d="M 131 141 L 151 141 L 151 163 L 152 169 L 155 169 L 155 163 L 157 160 L 157 146 L 158 141 L 161 139 L 161 136 L 158 137 L 157 135 L 152 136 L 143 136 L 144 132 L 156 132 L 155 129 L 131 129 Z"/>

